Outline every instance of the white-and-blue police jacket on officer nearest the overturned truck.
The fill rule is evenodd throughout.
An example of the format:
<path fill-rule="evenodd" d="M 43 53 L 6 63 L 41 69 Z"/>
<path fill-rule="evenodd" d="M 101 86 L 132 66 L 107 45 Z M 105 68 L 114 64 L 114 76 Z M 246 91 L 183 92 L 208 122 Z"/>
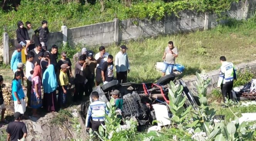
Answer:
<path fill-rule="evenodd" d="M 97 121 L 104 121 L 105 113 L 108 114 L 106 103 L 102 101 L 94 101 L 88 107 L 85 126 L 89 127 L 91 118 Z"/>

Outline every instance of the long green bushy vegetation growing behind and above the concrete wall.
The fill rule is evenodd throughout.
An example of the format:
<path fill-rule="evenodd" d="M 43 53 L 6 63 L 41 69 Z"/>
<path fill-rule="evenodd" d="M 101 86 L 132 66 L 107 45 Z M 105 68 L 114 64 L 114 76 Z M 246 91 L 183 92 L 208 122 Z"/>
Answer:
<path fill-rule="evenodd" d="M 182 10 L 195 10 L 197 12 L 220 13 L 229 10 L 232 2 L 238 0 L 176 0 L 164 2 L 162 0 L 148 1 L 136 0 L 133 2 L 120 2 L 118 0 L 105 0 L 101 12 L 101 3 L 82 5 L 77 0 L 21 0 L 17 10 L 5 12 L 0 10 L 0 27 L 6 27 L 11 38 L 16 37 L 17 22 L 22 20 L 32 22 L 33 29 L 40 27 L 42 20 L 49 22 L 51 32 L 59 31 L 61 25 L 78 27 L 82 25 L 108 22 L 113 18 L 124 20 L 127 18 L 155 18 L 161 20 L 165 15 L 175 14 Z M 127 6 L 130 5 L 130 6 Z M 15 8 L 13 8 L 15 9 Z M 3 32 L 3 28 L 0 28 Z M 0 35 L 2 37 L 2 34 Z"/>

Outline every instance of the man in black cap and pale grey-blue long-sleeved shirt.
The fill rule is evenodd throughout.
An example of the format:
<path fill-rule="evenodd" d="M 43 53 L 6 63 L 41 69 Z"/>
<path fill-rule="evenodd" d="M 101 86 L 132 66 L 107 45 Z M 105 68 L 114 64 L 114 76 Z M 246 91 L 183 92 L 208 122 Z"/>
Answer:
<path fill-rule="evenodd" d="M 130 64 L 126 50 L 128 49 L 125 45 L 121 45 L 120 52 L 116 54 L 115 65 L 116 65 L 116 79 L 119 83 L 127 82 L 127 72 L 130 72 Z"/>

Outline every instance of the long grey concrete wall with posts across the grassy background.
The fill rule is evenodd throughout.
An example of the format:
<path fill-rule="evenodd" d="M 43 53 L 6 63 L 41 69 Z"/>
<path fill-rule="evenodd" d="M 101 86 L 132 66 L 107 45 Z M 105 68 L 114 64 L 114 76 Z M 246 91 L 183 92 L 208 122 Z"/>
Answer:
<path fill-rule="evenodd" d="M 256 9 L 256 0 L 246 0 L 232 3 L 231 9 L 222 15 L 236 18 L 238 20 L 246 19 L 254 15 Z M 177 32 L 190 32 L 199 29 L 211 29 L 219 23 L 226 22 L 222 20 L 217 22 L 218 16 L 214 13 L 197 13 L 191 10 L 184 10 L 163 18 L 161 21 L 148 19 L 128 19 L 119 22 L 114 19 L 112 22 L 104 22 L 93 25 L 86 25 L 67 29 L 65 31 L 53 32 L 49 35 L 49 46 L 62 42 L 69 42 L 71 46 L 83 44 L 84 46 L 108 45 L 119 43 L 122 40 L 137 39 L 139 37 L 155 36 L 159 34 L 174 34 Z M 17 41 L 10 39 L 10 46 Z M 10 56 L 13 48 L 10 48 Z"/>

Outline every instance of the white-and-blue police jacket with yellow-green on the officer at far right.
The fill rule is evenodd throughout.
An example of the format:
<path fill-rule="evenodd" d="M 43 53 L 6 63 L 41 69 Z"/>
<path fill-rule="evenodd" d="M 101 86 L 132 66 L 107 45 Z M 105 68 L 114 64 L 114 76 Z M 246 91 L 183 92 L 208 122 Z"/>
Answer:
<path fill-rule="evenodd" d="M 219 72 L 219 81 L 217 86 L 225 84 L 226 82 L 233 81 L 236 79 L 236 69 L 233 63 L 223 62 L 221 65 L 221 70 Z"/>

